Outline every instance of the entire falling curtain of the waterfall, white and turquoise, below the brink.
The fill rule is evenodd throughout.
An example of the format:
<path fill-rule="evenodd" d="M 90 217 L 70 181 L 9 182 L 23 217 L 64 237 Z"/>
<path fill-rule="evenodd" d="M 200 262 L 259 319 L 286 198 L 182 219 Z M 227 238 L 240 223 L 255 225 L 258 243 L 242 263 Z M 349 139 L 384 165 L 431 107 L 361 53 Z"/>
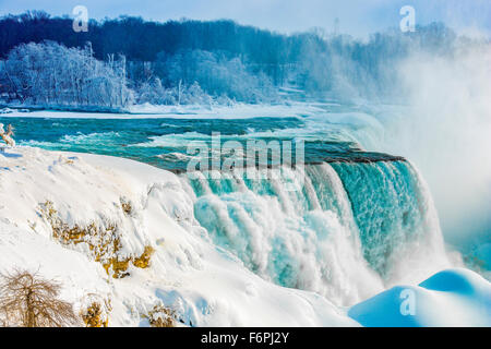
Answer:
<path fill-rule="evenodd" d="M 348 305 L 395 281 L 407 272 L 402 265 L 415 267 L 415 253 L 418 263 L 444 255 L 431 197 L 407 161 L 282 167 L 273 180 L 206 174 L 181 177 L 195 218 L 216 244 L 278 285 Z M 289 190 L 300 178 L 302 189 Z"/>

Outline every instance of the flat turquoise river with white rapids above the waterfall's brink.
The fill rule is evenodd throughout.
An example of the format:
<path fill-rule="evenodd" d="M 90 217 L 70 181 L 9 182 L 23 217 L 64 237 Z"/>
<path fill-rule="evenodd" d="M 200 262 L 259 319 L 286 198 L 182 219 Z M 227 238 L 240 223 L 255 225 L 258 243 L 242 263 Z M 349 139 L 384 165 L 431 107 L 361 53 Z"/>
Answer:
<path fill-rule="evenodd" d="M 298 139 L 296 130 L 304 127 L 304 121 L 297 118 L 247 120 L 0 118 L 0 123 L 14 124 L 15 140 L 20 145 L 127 157 L 176 171 L 184 170 L 189 156 L 192 155 L 188 154 L 188 145 L 193 141 L 209 145 L 213 133 L 220 133 L 221 144 L 238 141 L 247 148 L 247 142 L 250 140 L 295 141 Z M 395 159 L 385 154 L 362 152 L 354 140 L 336 139 L 333 134 L 321 137 L 307 134 L 302 135 L 302 139 L 306 141 L 307 163 Z"/>

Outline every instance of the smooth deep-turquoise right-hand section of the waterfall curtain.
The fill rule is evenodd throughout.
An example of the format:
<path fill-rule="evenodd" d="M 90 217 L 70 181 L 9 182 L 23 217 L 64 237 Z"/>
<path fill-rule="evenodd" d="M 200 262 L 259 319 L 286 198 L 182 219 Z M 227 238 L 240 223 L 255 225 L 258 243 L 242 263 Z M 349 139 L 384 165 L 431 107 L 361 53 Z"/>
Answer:
<path fill-rule="evenodd" d="M 333 164 L 349 196 L 363 256 L 390 278 L 407 244 L 440 234 L 427 193 L 406 161 Z"/>

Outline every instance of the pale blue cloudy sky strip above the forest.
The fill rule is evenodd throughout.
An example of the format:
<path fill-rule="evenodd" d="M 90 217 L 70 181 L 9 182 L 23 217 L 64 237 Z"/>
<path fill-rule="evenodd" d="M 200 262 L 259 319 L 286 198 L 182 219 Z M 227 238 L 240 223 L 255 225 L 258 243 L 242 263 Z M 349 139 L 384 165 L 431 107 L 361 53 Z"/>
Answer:
<path fill-rule="evenodd" d="M 231 19 L 280 33 L 337 27 L 356 37 L 398 27 L 400 8 L 411 5 L 416 24 L 440 21 L 459 33 L 491 36 L 491 0 L 0 0 L 0 15 L 26 10 L 71 15 L 75 5 L 85 5 L 97 20 L 123 14 L 156 21 Z"/>

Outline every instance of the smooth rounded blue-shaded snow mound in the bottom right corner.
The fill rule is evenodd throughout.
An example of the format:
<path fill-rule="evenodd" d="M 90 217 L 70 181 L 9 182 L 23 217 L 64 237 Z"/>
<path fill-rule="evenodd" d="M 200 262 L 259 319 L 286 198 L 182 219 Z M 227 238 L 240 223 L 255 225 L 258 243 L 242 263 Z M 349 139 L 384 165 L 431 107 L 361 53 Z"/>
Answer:
<path fill-rule="evenodd" d="M 491 326 L 491 284 L 464 268 L 440 272 L 419 286 L 396 286 L 354 305 L 369 327 Z"/>

